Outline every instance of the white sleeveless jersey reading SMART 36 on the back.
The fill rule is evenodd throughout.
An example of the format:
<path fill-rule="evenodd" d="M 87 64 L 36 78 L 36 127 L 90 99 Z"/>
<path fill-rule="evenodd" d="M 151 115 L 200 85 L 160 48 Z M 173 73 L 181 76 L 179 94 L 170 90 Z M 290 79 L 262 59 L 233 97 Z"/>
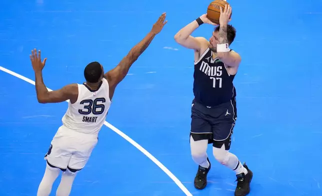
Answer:
<path fill-rule="evenodd" d="M 91 90 L 85 83 L 78 84 L 77 101 L 68 102 L 62 123 L 67 128 L 78 132 L 98 134 L 109 106 L 109 87 L 105 78 L 102 79 L 97 90 Z"/>

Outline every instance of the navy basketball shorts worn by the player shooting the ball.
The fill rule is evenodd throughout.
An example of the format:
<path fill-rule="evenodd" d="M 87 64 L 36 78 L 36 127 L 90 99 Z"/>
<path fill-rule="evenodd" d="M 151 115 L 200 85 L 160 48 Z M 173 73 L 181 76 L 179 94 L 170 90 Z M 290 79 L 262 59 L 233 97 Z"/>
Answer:
<path fill-rule="evenodd" d="M 214 147 L 230 149 L 231 135 L 237 119 L 236 99 L 216 106 L 204 106 L 192 100 L 190 136 L 194 141 L 208 139 Z"/>

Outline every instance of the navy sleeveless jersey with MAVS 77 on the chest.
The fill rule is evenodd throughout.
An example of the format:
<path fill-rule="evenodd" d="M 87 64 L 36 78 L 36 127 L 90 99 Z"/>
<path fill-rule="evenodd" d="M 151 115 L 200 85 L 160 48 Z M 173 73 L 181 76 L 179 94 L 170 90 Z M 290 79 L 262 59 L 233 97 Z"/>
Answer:
<path fill-rule="evenodd" d="M 209 48 L 194 62 L 193 78 L 194 99 L 204 106 L 216 106 L 236 96 L 234 75 L 227 72 L 218 58 L 212 59 Z"/>

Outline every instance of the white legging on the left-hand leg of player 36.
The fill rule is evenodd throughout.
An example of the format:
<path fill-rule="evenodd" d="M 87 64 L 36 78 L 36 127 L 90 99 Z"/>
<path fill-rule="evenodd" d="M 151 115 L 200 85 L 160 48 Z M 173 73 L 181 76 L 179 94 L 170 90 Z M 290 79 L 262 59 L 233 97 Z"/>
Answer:
<path fill-rule="evenodd" d="M 59 173 L 59 168 L 51 167 L 46 164 L 46 169 L 38 187 L 37 196 L 48 196 L 50 194 L 52 184 L 58 177 Z"/>

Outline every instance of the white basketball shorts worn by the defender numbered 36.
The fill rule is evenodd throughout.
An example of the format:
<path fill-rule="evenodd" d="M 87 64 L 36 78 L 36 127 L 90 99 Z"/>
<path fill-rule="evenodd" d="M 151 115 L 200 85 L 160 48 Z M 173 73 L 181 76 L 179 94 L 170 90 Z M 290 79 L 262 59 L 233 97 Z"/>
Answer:
<path fill-rule="evenodd" d="M 51 140 L 45 159 L 58 168 L 82 169 L 97 144 L 97 135 L 85 134 L 60 126 Z"/>

